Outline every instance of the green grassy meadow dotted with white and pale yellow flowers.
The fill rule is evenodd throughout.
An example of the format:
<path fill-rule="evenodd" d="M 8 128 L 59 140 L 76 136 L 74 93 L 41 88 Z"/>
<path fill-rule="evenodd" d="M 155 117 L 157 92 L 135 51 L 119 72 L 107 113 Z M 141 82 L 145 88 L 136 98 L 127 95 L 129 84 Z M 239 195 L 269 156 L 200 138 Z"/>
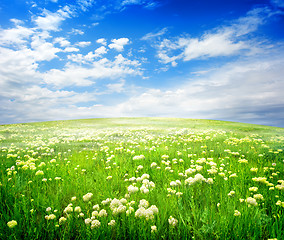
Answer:
<path fill-rule="evenodd" d="M 0 126 L 0 239 L 284 239 L 284 129 L 209 120 Z"/>

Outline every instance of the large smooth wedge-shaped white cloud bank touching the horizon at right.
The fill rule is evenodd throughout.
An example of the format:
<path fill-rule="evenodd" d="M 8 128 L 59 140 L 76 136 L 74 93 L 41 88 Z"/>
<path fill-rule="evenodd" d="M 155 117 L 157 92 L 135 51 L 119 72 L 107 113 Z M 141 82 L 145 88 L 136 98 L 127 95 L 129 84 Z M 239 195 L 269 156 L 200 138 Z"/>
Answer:
<path fill-rule="evenodd" d="M 125 116 L 209 118 L 283 126 L 283 64 L 284 59 L 277 56 L 230 63 L 171 90 L 149 89 L 115 107 Z"/>

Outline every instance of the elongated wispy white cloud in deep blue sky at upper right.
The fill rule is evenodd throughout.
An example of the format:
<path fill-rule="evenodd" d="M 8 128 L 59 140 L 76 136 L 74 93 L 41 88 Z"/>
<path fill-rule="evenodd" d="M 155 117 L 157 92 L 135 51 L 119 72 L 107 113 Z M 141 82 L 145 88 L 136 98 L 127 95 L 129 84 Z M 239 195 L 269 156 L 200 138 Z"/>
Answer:
<path fill-rule="evenodd" d="M 206 32 L 200 38 L 178 37 L 176 40 L 164 39 L 158 45 L 157 57 L 162 63 L 177 65 L 177 60 L 208 59 L 219 56 L 252 54 L 262 46 L 247 37 L 259 25 L 273 15 L 268 8 L 257 8 L 239 18 L 229 26 L 221 26 Z M 152 35 L 150 34 L 149 37 Z M 144 37 L 147 37 L 144 36 Z"/>

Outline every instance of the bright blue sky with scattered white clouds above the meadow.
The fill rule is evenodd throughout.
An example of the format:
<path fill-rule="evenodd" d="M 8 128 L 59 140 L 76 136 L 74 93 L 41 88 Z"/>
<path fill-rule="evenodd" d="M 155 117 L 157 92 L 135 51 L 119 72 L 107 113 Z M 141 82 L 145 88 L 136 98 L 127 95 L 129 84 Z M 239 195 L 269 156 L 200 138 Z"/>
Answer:
<path fill-rule="evenodd" d="M 0 0 L 0 124 L 284 127 L 284 0 Z"/>

